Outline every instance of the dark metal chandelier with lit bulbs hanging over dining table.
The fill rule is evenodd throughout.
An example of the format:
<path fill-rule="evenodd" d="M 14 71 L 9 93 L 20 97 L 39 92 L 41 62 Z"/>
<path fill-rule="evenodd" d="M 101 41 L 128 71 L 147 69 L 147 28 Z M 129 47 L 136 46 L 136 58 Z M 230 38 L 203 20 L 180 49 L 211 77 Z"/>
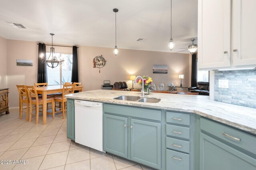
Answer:
<path fill-rule="evenodd" d="M 50 35 L 54 35 L 53 33 L 50 33 Z M 53 42 L 52 42 L 52 47 L 50 47 L 50 55 L 48 57 L 47 60 L 43 59 L 43 56 L 44 55 L 41 55 L 41 61 L 42 63 L 46 63 L 47 66 L 51 67 L 51 68 L 54 68 L 56 66 L 58 66 L 59 64 L 63 64 L 64 62 L 64 59 L 60 59 L 60 61 L 58 61 L 56 55 L 55 55 L 55 52 L 54 52 L 54 47 L 53 47 Z"/>

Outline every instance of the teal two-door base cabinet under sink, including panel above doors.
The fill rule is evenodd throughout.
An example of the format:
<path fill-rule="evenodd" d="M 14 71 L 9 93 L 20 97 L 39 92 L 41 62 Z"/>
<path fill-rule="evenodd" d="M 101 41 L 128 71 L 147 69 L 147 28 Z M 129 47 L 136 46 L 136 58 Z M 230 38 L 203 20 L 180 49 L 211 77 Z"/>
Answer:
<path fill-rule="evenodd" d="M 162 169 L 161 111 L 104 104 L 103 149 Z"/>

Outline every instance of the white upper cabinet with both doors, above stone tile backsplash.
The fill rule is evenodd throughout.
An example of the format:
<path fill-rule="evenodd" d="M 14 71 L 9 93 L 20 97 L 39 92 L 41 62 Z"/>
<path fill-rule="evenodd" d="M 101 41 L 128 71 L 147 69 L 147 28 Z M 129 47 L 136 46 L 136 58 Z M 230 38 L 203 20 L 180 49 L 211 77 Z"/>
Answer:
<path fill-rule="evenodd" d="M 198 68 L 256 65 L 256 0 L 198 0 Z"/>

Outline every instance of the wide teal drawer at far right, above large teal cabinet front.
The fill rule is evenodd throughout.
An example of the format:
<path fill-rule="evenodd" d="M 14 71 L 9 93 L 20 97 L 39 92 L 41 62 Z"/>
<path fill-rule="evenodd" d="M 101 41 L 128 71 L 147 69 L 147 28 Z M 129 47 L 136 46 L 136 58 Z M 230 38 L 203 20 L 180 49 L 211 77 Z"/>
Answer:
<path fill-rule="evenodd" d="M 256 137 L 232 127 L 210 121 L 208 119 L 200 118 L 200 129 L 206 131 L 224 141 L 232 143 L 242 149 L 256 154 Z"/>

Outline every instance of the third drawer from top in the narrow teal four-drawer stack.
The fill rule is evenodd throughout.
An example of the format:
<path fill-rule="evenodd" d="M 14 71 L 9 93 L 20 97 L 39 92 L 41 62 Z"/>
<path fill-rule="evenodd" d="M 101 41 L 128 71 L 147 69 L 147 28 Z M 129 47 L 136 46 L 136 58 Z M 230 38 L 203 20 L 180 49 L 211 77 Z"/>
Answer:
<path fill-rule="evenodd" d="M 182 152 L 190 152 L 189 142 L 180 139 L 166 137 L 166 147 L 170 149 L 179 150 Z"/>

